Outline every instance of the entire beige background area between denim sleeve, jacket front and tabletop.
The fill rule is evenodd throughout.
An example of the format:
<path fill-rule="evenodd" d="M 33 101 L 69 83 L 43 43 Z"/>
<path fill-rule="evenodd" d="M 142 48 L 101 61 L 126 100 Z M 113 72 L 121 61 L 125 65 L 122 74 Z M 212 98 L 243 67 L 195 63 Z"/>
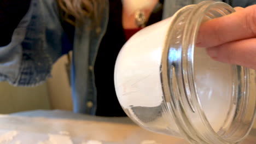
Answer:
<path fill-rule="evenodd" d="M 66 73 L 67 56 L 55 63 L 52 77 L 37 87 L 14 87 L 0 82 L 0 113 L 60 109 L 72 111 L 71 87 Z"/>

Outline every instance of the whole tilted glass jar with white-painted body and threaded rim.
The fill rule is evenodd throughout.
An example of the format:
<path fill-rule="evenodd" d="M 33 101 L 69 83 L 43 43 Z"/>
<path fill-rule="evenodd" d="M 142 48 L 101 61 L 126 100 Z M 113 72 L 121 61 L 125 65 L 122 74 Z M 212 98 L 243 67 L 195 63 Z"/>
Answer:
<path fill-rule="evenodd" d="M 119 103 L 135 123 L 191 143 L 246 137 L 255 113 L 255 71 L 213 61 L 195 45 L 202 22 L 234 11 L 223 2 L 188 5 L 127 41 L 114 81 Z"/>

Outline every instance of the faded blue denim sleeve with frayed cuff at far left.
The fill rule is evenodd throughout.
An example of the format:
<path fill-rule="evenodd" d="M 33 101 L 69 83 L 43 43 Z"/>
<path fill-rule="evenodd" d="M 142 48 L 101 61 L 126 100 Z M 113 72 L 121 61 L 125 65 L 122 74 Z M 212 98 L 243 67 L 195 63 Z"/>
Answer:
<path fill-rule="evenodd" d="M 55 0 L 31 0 L 11 43 L 0 47 L 0 81 L 35 86 L 50 76 L 53 63 L 62 53 L 63 29 L 58 12 Z"/>

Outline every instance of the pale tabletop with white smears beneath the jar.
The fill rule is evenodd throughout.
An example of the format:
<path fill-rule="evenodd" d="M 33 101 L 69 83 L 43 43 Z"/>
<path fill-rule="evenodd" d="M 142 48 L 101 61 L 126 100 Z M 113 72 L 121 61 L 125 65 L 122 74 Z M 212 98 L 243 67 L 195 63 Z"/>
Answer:
<path fill-rule="evenodd" d="M 177 137 L 144 130 L 129 118 L 94 117 L 59 110 L 0 115 L 0 144 L 2 143 L 188 144 Z M 256 130 L 252 130 L 243 142 L 247 143 L 256 143 Z"/>

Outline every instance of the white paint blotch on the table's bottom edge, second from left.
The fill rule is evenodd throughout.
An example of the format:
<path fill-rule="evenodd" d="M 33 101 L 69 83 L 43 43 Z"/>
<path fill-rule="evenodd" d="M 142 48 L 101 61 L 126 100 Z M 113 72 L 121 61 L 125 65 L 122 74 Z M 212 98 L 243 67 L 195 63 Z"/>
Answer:
<path fill-rule="evenodd" d="M 73 144 L 69 136 L 49 134 L 49 140 L 37 144 Z"/>

